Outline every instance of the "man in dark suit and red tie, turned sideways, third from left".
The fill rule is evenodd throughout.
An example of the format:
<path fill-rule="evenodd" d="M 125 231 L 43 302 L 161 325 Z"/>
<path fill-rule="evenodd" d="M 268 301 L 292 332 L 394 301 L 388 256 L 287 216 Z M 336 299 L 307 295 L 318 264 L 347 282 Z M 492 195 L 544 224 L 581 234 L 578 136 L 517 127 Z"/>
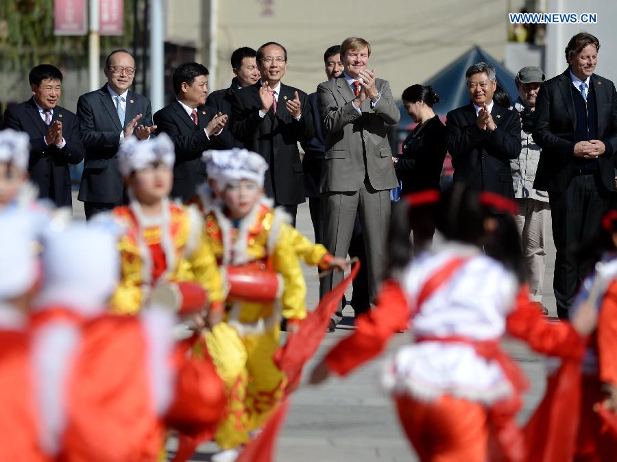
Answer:
<path fill-rule="evenodd" d="M 202 153 L 228 149 L 223 138 L 227 115 L 204 106 L 208 96 L 208 69 L 203 64 L 180 64 L 172 76 L 176 101 L 154 114 L 157 133 L 167 133 L 176 146 L 171 197 L 186 202 L 206 179 Z"/>

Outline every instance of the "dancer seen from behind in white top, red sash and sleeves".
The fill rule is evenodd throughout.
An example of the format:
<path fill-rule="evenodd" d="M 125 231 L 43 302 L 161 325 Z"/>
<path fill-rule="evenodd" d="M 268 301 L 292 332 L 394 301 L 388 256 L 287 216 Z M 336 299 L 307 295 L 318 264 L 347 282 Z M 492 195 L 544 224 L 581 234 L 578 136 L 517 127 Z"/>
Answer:
<path fill-rule="evenodd" d="M 506 332 L 541 352 L 581 354 L 577 332 L 569 324 L 547 324 L 521 289 L 524 262 L 513 218 L 493 215 L 512 204 L 455 184 L 437 208 L 446 243 L 411 263 L 409 226 L 391 227 L 391 279 L 376 309 L 313 371 L 314 383 L 330 372 L 344 376 L 409 326 L 414 343 L 398 351 L 383 382 L 422 462 L 485 462 L 489 440 L 505 460 L 525 457 L 514 420 L 525 382 L 500 350 Z M 483 246 L 500 254 L 487 256 Z"/>

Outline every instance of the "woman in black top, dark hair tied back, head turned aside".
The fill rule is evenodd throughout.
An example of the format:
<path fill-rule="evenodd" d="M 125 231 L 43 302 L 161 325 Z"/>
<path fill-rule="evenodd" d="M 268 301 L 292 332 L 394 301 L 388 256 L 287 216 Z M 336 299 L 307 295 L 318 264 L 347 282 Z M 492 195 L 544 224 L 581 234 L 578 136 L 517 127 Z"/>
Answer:
<path fill-rule="evenodd" d="M 412 85 L 402 93 L 407 113 L 418 125 L 405 138 L 401 154 L 393 158 L 396 176 L 402 182 L 402 194 L 439 189 L 439 177 L 446 158 L 446 127 L 433 112 L 439 96 L 430 85 Z M 430 220 L 416 223 L 412 229 L 414 250 L 433 242 L 435 225 Z"/>

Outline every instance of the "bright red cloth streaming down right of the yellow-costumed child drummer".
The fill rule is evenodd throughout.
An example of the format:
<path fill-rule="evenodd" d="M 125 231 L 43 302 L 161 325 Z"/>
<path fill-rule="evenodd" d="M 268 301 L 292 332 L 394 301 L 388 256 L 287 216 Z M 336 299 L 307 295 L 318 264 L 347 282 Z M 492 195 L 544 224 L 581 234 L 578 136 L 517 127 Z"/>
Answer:
<path fill-rule="evenodd" d="M 359 269 L 360 262 L 356 261 L 349 275 L 327 293 L 317 308 L 302 321 L 300 330 L 289 335 L 285 345 L 274 353 L 274 363 L 287 375 L 287 394 L 298 388 L 302 367 L 317 351 L 319 343 L 326 335 L 330 316 L 337 310 L 343 294 L 358 274 Z"/>

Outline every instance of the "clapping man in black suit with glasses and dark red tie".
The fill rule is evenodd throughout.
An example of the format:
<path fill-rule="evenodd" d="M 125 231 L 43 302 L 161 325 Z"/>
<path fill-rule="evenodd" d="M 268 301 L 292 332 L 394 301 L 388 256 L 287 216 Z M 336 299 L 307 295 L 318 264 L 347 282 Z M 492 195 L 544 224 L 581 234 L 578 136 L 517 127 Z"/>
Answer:
<path fill-rule="evenodd" d="M 282 84 L 287 50 L 267 42 L 256 53 L 261 83 L 238 90 L 232 106 L 232 134 L 268 162 L 265 191 L 283 206 L 295 226 L 304 202 L 304 175 L 298 141 L 315 133 L 309 101 L 302 90 Z"/>

